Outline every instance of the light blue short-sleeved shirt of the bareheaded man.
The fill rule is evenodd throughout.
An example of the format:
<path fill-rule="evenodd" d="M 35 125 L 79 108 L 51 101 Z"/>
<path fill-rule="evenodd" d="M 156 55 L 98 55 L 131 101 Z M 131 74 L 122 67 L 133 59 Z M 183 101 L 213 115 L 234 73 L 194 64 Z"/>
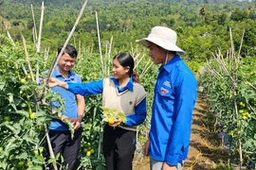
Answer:
<path fill-rule="evenodd" d="M 56 77 L 67 83 L 82 82 L 81 77 L 76 73 L 72 72 L 71 70 L 69 71 L 68 76 L 64 78 L 64 76 L 62 76 L 62 74 L 60 73 L 58 66 L 54 69 L 52 73 L 52 77 Z M 64 90 L 61 87 L 52 87 L 51 89 L 53 91 L 57 91 L 61 93 L 63 99 L 65 100 L 64 101 L 65 110 L 63 110 L 64 115 L 72 118 L 78 117 L 78 106 L 77 106 L 76 94 L 71 93 L 67 90 Z M 59 106 L 60 104 L 59 102 L 53 102 L 52 105 L 54 107 L 54 106 Z M 59 120 L 52 120 L 49 128 L 53 130 L 68 130 L 68 127 L 62 121 L 59 121 Z"/>

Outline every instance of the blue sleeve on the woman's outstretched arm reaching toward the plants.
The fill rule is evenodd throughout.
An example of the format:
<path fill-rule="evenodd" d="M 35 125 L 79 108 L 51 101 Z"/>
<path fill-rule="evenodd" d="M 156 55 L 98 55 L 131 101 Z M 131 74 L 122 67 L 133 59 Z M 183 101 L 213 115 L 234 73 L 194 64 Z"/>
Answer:
<path fill-rule="evenodd" d="M 68 91 L 87 96 L 103 92 L 103 79 L 88 83 L 68 83 Z"/>

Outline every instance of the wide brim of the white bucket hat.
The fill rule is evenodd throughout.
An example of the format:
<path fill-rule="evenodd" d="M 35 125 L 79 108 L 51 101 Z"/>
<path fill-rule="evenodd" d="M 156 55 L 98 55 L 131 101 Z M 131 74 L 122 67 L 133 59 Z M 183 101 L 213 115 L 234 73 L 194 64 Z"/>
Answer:
<path fill-rule="evenodd" d="M 143 39 L 140 39 L 140 40 L 137 40 L 136 42 L 140 42 L 141 44 L 143 44 L 145 47 L 149 48 L 149 42 L 153 42 L 155 43 L 156 45 L 168 50 L 168 51 L 175 51 L 181 55 L 184 55 L 184 51 L 179 48 L 177 45 L 175 45 L 174 43 L 171 43 L 171 42 L 165 42 L 163 40 L 159 40 L 155 37 L 148 37 L 148 38 L 143 38 Z"/>

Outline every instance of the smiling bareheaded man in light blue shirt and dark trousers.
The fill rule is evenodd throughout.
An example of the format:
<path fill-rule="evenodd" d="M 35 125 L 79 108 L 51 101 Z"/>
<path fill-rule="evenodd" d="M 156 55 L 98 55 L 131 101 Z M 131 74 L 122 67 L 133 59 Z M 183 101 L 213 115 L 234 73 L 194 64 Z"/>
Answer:
<path fill-rule="evenodd" d="M 63 45 L 58 48 L 58 54 L 61 52 Z M 68 83 L 81 83 L 81 77 L 72 72 L 71 69 L 75 65 L 78 52 L 72 45 L 66 45 L 64 54 L 59 60 L 52 77 L 56 77 Z M 82 117 L 85 110 L 84 97 L 80 94 L 74 94 L 64 90 L 61 87 L 51 88 L 53 91 L 61 93 L 64 98 L 63 119 L 70 119 L 74 125 L 75 133 L 73 140 L 68 127 L 61 120 L 52 120 L 49 127 L 49 138 L 51 146 L 56 156 L 60 153 L 64 157 L 64 166 L 68 170 L 73 170 L 75 161 L 77 159 L 79 150 L 81 148 L 81 135 L 82 135 Z M 58 102 L 52 103 L 53 108 L 58 106 Z M 46 159 L 49 159 L 49 151 L 46 146 Z M 52 169 L 52 164 L 49 164 Z"/>

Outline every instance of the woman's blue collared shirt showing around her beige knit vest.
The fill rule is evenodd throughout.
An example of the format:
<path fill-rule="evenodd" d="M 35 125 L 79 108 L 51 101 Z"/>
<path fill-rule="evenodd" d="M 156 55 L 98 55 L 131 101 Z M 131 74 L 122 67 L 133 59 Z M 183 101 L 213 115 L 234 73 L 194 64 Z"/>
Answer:
<path fill-rule="evenodd" d="M 115 77 L 110 77 L 111 80 L 114 81 L 119 93 L 125 91 L 128 89 L 129 91 L 134 90 L 134 81 L 131 77 L 129 82 L 126 86 L 119 88 L 119 80 Z M 87 96 L 90 94 L 99 94 L 103 92 L 103 79 L 98 81 L 91 81 L 88 83 L 75 83 L 75 84 L 69 84 L 68 83 L 68 91 L 72 93 L 79 93 L 83 96 Z M 132 127 L 137 126 L 143 123 L 143 121 L 146 118 L 146 98 L 144 98 L 135 108 L 135 114 L 129 115 L 126 117 L 127 122 L 124 124 L 124 126 Z"/>

